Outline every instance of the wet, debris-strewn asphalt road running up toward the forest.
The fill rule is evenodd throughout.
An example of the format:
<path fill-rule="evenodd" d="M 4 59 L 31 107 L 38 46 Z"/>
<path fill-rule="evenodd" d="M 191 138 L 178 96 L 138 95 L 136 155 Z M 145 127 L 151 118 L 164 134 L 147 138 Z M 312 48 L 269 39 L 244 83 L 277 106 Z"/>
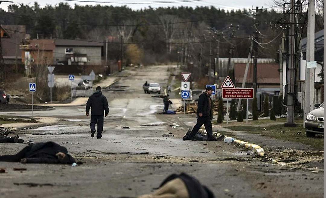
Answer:
<path fill-rule="evenodd" d="M 186 123 L 194 122 L 196 117 L 156 115 L 163 109 L 162 99 L 142 91 L 145 81 L 165 86 L 169 75 L 168 66 L 124 71 L 124 76 L 112 86 L 118 90 L 103 90 L 110 114 L 99 140 L 90 137 L 84 107 L 35 112 L 35 116 L 57 117 L 61 121 L 54 126 L 22 130 L 22 139 L 54 141 L 84 163 L 72 167 L 0 162 L 0 167 L 6 169 L 0 174 L 0 197 L 137 197 L 154 191 L 168 175 L 181 172 L 195 176 L 215 197 L 323 196 L 322 171 L 274 164 L 222 141 L 182 141 L 189 128 Z M 30 116 L 29 112 L 4 114 Z M 180 127 L 173 129 L 171 123 Z M 141 127 L 144 124 L 158 126 Z M 162 137 L 170 132 L 174 137 Z M 24 146 L 0 144 L 1 154 L 15 154 Z M 98 154 L 99 151 L 115 154 Z"/>

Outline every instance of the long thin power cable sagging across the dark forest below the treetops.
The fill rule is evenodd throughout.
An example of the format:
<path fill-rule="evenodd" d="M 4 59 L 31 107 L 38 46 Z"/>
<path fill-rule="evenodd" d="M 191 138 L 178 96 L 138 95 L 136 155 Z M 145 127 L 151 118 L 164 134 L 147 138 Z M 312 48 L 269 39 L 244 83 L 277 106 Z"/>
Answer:
<path fill-rule="evenodd" d="M 275 7 L 279 7 L 279 6 L 272 6 L 269 8 L 264 8 L 262 10 L 267 10 L 270 8 L 275 8 Z M 122 27 L 122 26 L 152 26 L 152 25 L 170 25 L 170 24 L 182 24 L 182 23 L 194 23 L 194 22 L 200 22 L 200 21 L 211 21 L 211 20 L 215 20 L 215 19 L 222 19 L 222 18 L 228 18 L 228 17 L 233 17 L 233 16 L 238 16 L 238 15 L 242 15 L 242 14 L 250 14 L 254 11 L 248 11 L 248 12 L 243 12 L 243 13 L 237 13 L 237 14 L 232 14 L 232 15 L 227 15 L 227 16 L 223 16 L 223 17 L 214 17 L 214 18 L 209 18 L 209 19 L 199 19 L 199 20 L 191 20 L 191 21 L 183 21 L 183 22 L 171 22 L 171 23 L 149 23 L 149 24 L 86 24 L 86 23 L 75 23 L 76 25 L 83 25 L 83 26 L 107 26 L 107 27 Z M 26 16 L 22 16 L 22 15 L 18 15 L 18 14 L 12 14 L 12 13 L 0 13 L 0 15 L 7 15 L 7 16 L 13 16 L 13 17 L 18 17 L 18 18 L 24 18 L 26 19 Z M 27 17 L 30 19 L 36 19 L 36 20 L 40 20 L 40 21 L 44 21 L 39 17 Z M 57 21 L 58 23 L 64 23 L 61 22 L 57 19 L 53 19 L 54 21 Z"/>

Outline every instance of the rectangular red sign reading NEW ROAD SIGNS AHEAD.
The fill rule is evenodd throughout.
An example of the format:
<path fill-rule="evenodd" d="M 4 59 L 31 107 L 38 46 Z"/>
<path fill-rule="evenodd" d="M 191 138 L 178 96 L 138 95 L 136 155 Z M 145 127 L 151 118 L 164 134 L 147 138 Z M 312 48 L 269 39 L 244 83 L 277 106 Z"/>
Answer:
<path fill-rule="evenodd" d="M 225 99 L 253 99 L 254 89 L 253 88 L 231 88 L 222 89 L 222 98 Z"/>

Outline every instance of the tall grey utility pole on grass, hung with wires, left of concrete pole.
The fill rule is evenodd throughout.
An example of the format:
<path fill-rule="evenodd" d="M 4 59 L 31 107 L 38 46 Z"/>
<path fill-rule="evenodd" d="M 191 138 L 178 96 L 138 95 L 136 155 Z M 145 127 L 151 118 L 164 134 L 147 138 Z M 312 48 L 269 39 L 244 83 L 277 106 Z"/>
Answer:
<path fill-rule="evenodd" d="M 287 123 L 284 124 L 285 127 L 295 127 L 296 124 L 294 123 L 294 84 L 295 84 L 295 67 L 294 67 L 294 53 L 295 53 L 295 39 L 294 39 L 294 23 L 295 23 L 295 0 L 291 0 L 290 4 L 290 16 L 289 16 L 289 50 L 288 50 L 288 120 Z"/>

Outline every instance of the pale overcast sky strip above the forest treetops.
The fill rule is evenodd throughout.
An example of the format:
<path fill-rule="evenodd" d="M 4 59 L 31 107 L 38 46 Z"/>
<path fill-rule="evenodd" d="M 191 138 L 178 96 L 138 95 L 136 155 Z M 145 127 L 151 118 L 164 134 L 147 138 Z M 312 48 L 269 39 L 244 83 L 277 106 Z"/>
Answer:
<path fill-rule="evenodd" d="M 29 4 L 30 6 L 34 5 L 35 1 L 30 0 L 11 0 L 15 4 Z M 93 0 L 93 1 L 111 1 L 111 2 L 154 2 L 154 1 L 163 1 L 163 0 Z M 168 1 L 168 0 L 167 0 Z M 176 1 L 176 0 L 170 0 L 170 1 Z M 159 3 L 159 4 L 153 4 L 153 3 L 146 3 L 146 4 L 110 4 L 110 3 L 83 3 L 83 2 L 69 2 L 69 1 L 60 1 L 60 0 L 39 0 L 37 1 L 38 4 L 41 7 L 44 7 L 45 5 L 49 4 L 52 6 L 55 6 L 56 4 L 59 4 L 60 2 L 67 2 L 71 5 L 71 7 L 74 7 L 75 4 L 78 5 L 113 5 L 113 6 L 123 6 L 127 5 L 129 8 L 132 8 L 134 10 L 141 9 L 141 8 L 148 8 L 151 6 L 152 8 L 158 8 L 158 7 L 179 7 L 179 6 L 214 6 L 216 8 L 221 9 L 243 9 L 243 8 L 256 8 L 256 6 L 259 6 L 259 8 L 264 7 L 268 8 L 273 6 L 272 0 L 204 0 L 204 1 L 197 1 L 197 2 L 185 2 L 185 3 Z M 0 5 L 0 8 L 7 10 L 8 5 L 11 3 L 4 2 Z"/>

